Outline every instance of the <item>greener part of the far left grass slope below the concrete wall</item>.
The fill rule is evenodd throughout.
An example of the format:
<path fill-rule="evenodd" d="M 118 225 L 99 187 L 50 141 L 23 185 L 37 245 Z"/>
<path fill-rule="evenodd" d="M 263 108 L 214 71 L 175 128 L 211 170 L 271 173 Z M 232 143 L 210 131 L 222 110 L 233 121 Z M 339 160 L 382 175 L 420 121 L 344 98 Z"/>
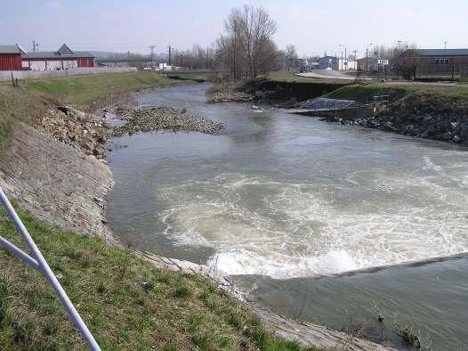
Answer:
<path fill-rule="evenodd" d="M 155 86 L 168 86 L 173 81 L 154 72 L 132 72 L 70 78 L 28 80 L 28 91 L 67 102 L 78 109 L 89 109 L 112 95 L 125 94 Z"/>

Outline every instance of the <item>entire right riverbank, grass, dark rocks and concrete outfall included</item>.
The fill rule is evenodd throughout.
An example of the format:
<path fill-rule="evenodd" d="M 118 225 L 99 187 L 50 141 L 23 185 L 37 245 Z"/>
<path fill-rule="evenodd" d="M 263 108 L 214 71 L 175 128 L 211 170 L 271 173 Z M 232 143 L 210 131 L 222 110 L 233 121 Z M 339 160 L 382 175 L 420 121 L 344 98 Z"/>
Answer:
<path fill-rule="evenodd" d="M 214 89 L 214 92 L 211 95 L 214 102 L 254 101 L 277 108 L 299 109 L 298 113 L 322 117 L 330 122 L 449 143 L 468 143 L 468 86 L 464 84 L 353 84 L 336 79 L 300 77 L 289 72 L 271 72 L 264 78 L 230 84 L 224 89 Z M 236 94 L 246 96 L 238 99 Z M 388 102 L 363 106 L 372 103 L 374 96 L 378 95 L 386 95 Z M 356 106 L 307 112 L 303 102 L 318 97 L 353 101 Z"/>

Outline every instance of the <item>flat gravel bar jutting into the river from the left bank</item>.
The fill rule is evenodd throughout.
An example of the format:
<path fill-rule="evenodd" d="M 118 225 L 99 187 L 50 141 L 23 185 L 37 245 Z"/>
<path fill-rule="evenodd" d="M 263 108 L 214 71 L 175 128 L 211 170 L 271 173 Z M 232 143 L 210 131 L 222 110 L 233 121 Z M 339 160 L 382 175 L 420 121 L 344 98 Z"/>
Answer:
<path fill-rule="evenodd" d="M 125 125 L 114 128 L 114 135 L 117 136 L 158 130 L 193 131 L 214 135 L 224 128 L 220 122 L 196 118 L 190 116 L 185 109 L 172 107 L 118 107 L 113 112 L 118 118 L 126 121 Z"/>

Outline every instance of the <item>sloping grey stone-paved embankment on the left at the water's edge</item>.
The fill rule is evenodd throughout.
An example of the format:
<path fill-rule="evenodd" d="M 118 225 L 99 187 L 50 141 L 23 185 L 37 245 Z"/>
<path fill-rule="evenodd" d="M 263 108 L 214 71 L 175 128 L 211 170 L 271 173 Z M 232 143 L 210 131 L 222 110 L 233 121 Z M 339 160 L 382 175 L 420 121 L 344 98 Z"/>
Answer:
<path fill-rule="evenodd" d="M 19 123 L 0 158 L 0 185 L 21 208 L 77 233 L 113 241 L 105 225 L 109 167 L 91 155 Z"/>

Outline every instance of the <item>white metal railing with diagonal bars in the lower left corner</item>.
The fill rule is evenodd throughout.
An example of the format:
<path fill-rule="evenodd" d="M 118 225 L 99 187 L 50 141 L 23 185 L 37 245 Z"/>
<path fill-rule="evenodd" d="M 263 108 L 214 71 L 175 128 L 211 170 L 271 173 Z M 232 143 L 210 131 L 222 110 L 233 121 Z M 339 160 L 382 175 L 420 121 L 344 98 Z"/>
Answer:
<path fill-rule="evenodd" d="M 18 233 L 20 233 L 21 238 L 28 246 L 29 253 L 31 256 L 29 256 L 20 248 L 13 245 L 10 241 L 7 241 L 6 239 L 2 238 L 2 236 L 0 236 L 0 246 L 3 246 L 5 249 L 8 249 L 13 255 L 20 257 L 26 264 L 33 267 L 40 273 L 44 274 L 45 279 L 47 279 L 47 281 L 52 285 L 53 290 L 55 290 L 57 297 L 61 301 L 61 306 L 63 306 L 63 308 L 65 308 L 65 310 L 69 314 L 69 318 L 71 319 L 73 324 L 75 324 L 75 327 L 80 332 L 83 339 L 85 339 L 85 342 L 88 345 L 88 347 L 93 351 L 101 350 L 101 347 L 99 347 L 98 343 L 93 338 L 93 334 L 91 334 L 91 332 L 88 330 L 85 322 L 83 322 L 80 315 L 78 314 L 77 309 L 71 303 L 69 297 L 67 296 L 67 293 L 61 287 L 61 283 L 57 280 L 55 274 L 53 274 L 49 265 L 47 265 L 47 262 L 42 256 L 41 251 L 37 249 L 36 243 L 29 235 L 28 229 L 26 229 L 24 224 L 21 222 L 20 217 L 16 214 L 14 208 L 12 207 L 12 204 L 10 203 L 10 200 L 8 200 L 8 198 L 6 197 L 2 187 L 0 187 L 0 201 L 4 205 L 8 216 L 10 216 L 12 223 L 18 230 Z"/>

